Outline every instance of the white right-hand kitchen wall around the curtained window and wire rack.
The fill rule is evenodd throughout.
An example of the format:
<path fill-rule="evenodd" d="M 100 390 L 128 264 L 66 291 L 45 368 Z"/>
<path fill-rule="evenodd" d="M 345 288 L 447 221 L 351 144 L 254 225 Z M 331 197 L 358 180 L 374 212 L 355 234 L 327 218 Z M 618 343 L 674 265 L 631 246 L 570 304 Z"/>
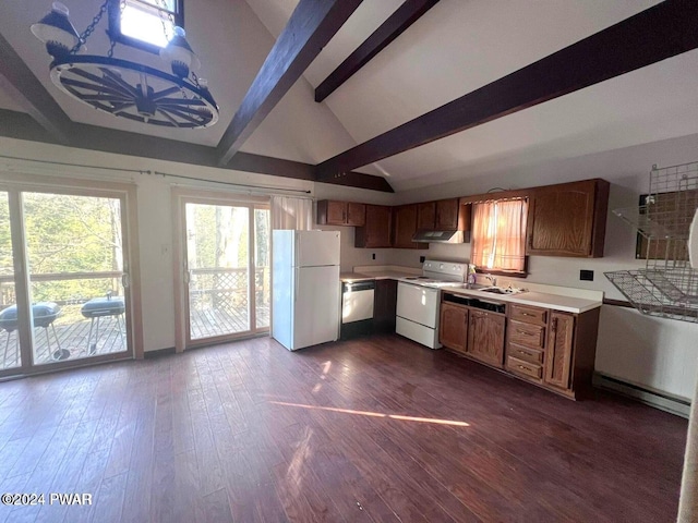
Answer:
<path fill-rule="evenodd" d="M 603 178 L 611 182 L 604 257 L 594 259 L 531 256 L 526 281 L 601 290 L 606 297 L 625 300 L 604 271 L 636 269 L 636 232 L 611 209 L 638 205 L 649 192 L 652 165 L 674 166 L 698 160 L 698 135 L 627 147 L 542 165 L 512 165 L 507 171 L 399 193 L 399 203 L 424 202 L 485 193 L 492 187 L 522 188 L 557 182 Z M 394 251 L 390 263 L 419 266 L 429 257 L 468 258 L 470 245 L 432 244 L 429 251 Z M 594 281 L 580 281 L 579 270 L 594 271 Z M 690 398 L 698 367 L 698 325 L 643 316 L 635 309 L 603 306 L 597 346 L 597 370 L 659 391 Z"/>

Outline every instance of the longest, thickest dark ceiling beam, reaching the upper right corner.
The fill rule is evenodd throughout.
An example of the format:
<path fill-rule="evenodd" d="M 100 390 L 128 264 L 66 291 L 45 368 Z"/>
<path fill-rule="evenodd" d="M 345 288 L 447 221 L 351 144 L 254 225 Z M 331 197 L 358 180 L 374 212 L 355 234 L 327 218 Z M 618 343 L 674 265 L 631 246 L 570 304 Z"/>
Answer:
<path fill-rule="evenodd" d="M 323 161 L 317 180 L 696 49 L 697 27 L 698 2 L 666 0 Z"/>

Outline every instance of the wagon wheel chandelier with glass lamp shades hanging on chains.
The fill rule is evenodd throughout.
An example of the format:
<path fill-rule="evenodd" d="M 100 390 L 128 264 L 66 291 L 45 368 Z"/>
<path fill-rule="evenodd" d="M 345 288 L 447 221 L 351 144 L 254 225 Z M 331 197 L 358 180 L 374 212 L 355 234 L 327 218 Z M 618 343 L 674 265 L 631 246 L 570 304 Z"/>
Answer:
<path fill-rule="evenodd" d="M 206 81 L 196 76 L 201 62 L 181 27 L 174 28 L 174 36 L 160 50 L 160 58 L 170 65 L 172 74 L 113 58 L 116 41 L 109 32 L 111 46 L 106 56 L 77 53 L 86 49 L 85 42 L 109 1 L 104 2 L 82 35 L 68 19 L 68 8 L 60 2 L 53 2 L 51 11 L 32 25 L 32 33 L 46 44 L 53 58 L 50 64 L 53 84 L 95 109 L 135 122 L 180 129 L 203 129 L 216 123 L 218 106 Z"/>

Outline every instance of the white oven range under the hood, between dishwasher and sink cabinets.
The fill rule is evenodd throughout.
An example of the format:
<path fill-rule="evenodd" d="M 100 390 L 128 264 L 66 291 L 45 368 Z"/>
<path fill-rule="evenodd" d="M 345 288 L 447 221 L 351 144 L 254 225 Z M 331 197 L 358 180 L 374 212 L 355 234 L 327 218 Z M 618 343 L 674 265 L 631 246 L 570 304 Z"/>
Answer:
<path fill-rule="evenodd" d="M 462 287 L 467 272 L 467 263 L 430 259 L 424 262 L 422 276 L 400 278 L 395 331 L 430 349 L 441 349 L 441 289 Z"/>

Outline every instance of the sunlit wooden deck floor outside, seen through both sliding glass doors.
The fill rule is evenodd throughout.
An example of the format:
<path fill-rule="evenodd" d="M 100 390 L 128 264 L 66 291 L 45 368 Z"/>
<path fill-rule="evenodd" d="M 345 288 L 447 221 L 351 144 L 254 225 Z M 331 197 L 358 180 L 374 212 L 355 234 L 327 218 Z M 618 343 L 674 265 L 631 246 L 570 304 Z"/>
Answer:
<path fill-rule="evenodd" d="M 119 318 L 119 319 L 118 319 Z M 37 365 L 45 365 L 53 362 L 53 353 L 58 350 L 56 336 L 61 349 L 70 351 L 71 360 L 80 360 L 92 355 L 110 354 L 127 350 L 125 325 L 123 317 L 103 316 L 99 320 L 99 338 L 96 346 L 91 353 L 88 346 L 89 319 L 81 319 L 70 324 L 61 324 L 59 320 L 48 329 L 37 327 L 34 329 L 34 342 L 36 345 L 35 362 Z M 257 325 L 269 325 L 269 307 L 257 309 Z M 95 320 L 96 328 L 96 320 Z M 229 311 L 206 309 L 198 311 L 192 315 L 192 339 L 209 338 L 250 330 L 246 308 L 234 308 Z M 47 335 L 48 332 L 48 340 Z M 95 343 L 93 340 L 89 345 Z M 7 348 L 7 351 L 5 351 Z M 11 368 L 19 365 L 17 354 L 17 331 L 0 331 L 0 368 Z"/>

